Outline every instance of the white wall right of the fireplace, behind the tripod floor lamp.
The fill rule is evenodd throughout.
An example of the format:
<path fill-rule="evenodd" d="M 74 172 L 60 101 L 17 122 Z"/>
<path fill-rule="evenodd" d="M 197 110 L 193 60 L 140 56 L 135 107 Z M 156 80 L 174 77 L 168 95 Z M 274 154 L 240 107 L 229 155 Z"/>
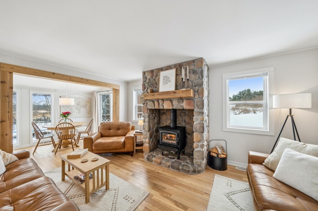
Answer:
<path fill-rule="evenodd" d="M 275 136 L 222 130 L 222 74 L 264 67 L 275 69 L 275 93 L 271 94 L 312 93 L 312 108 L 293 109 L 293 114 L 301 141 L 318 144 L 318 49 L 210 67 L 210 139 L 227 141 L 229 164 L 246 166 L 248 151 L 270 153 L 289 113 L 288 109 L 275 109 Z M 293 139 L 290 120 L 281 136 Z"/>

